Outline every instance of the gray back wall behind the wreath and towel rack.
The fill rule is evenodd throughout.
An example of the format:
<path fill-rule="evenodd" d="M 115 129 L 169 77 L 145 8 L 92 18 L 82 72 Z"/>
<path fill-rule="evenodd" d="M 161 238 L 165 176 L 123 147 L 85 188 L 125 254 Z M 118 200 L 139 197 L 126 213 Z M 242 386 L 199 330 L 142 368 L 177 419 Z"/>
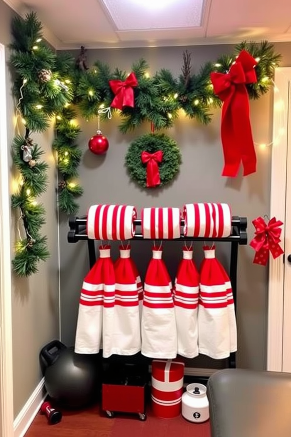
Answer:
<path fill-rule="evenodd" d="M 277 49 L 284 54 L 283 65 L 290 65 L 291 45 L 278 44 Z M 114 49 L 89 50 L 89 65 L 96 59 L 108 62 L 130 72 L 134 61 L 144 57 L 154 73 L 157 69 L 170 69 L 176 76 L 180 73 L 182 52 L 185 48 L 151 49 Z M 192 63 L 196 71 L 206 62 L 214 62 L 222 53 L 231 52 L 229 45 L 188 47 L 192 53 Z M 77 55 L 77 52 L 73 52 Z M 259 101 L 251 102 L 251 122 L 253 136 L 257 143 L 271 141 L 272 93 Z M 79 144 L 83 150 L 83 159 L 79 168 L 80 181 L 85 193 L 80 200 L 80 215 L 95 203 L 125 203 L 137 208 L 149 206 L 180 206 L 188 202 L 228 202 L 233 215 L 246 216 L 249 223 L 249 239 L 253 236 L 251 221 L 258 215 L 269 213 L 270 208 L 270 159 L 271 147 L 257 150 L 257 173 L 236 179 L 221 177 L 223 167 L 222 147 L 220 143 L 220 111 L 214 112 L 209 126 L 199 125 L 195 121 L 180 119 L 168 130 L 168 135 L 181 147 L 183 163 L 177 179 L 163 189 L 142 190 L 132 183 L 124 167 L 124 156 L 130 142 L 142 132 L 148 132 L 149 126 L 133 133 L 122 135 L 118 131 L 118 119 L 103 122 L 103 134 L 110 142 L 106 156 L 92 155 L 88 150 L 88 140 L 96 132 L 96 121 L 80 120 L 82 134 Z M 78 301 L 82 279 L 88 271 L 87 246 L 84 242 L 67 243 L 68 223 L 63 217 L 60 225 L 61 255 L 61 336 L 67 344 L 74 343 Z M 113 244 L 113 255 L 117 255 Z M 133 257 L 140 273 L 144 277 L 147 263 L 151 257 L 151 244 L 132 242 Z M 201 260 L 201 245 L 195 244 L 195 259 Z M 180 243 L 164 244 L 164 260 L 175 276 L 178 260 L 181 257 Z M 218 257 L 228 267 L 229 245 L 218 245 Z M 264 369 L 266 367 L 267 343 L 267 268 L 252 264 L 253 250 L 241 246 L 238 268 L 238 354 L 237 364 L 242 368 Z M 188 363 L 192 367 L 210 365 L 219 367 L 219 363 L 197 358 Z"/>

